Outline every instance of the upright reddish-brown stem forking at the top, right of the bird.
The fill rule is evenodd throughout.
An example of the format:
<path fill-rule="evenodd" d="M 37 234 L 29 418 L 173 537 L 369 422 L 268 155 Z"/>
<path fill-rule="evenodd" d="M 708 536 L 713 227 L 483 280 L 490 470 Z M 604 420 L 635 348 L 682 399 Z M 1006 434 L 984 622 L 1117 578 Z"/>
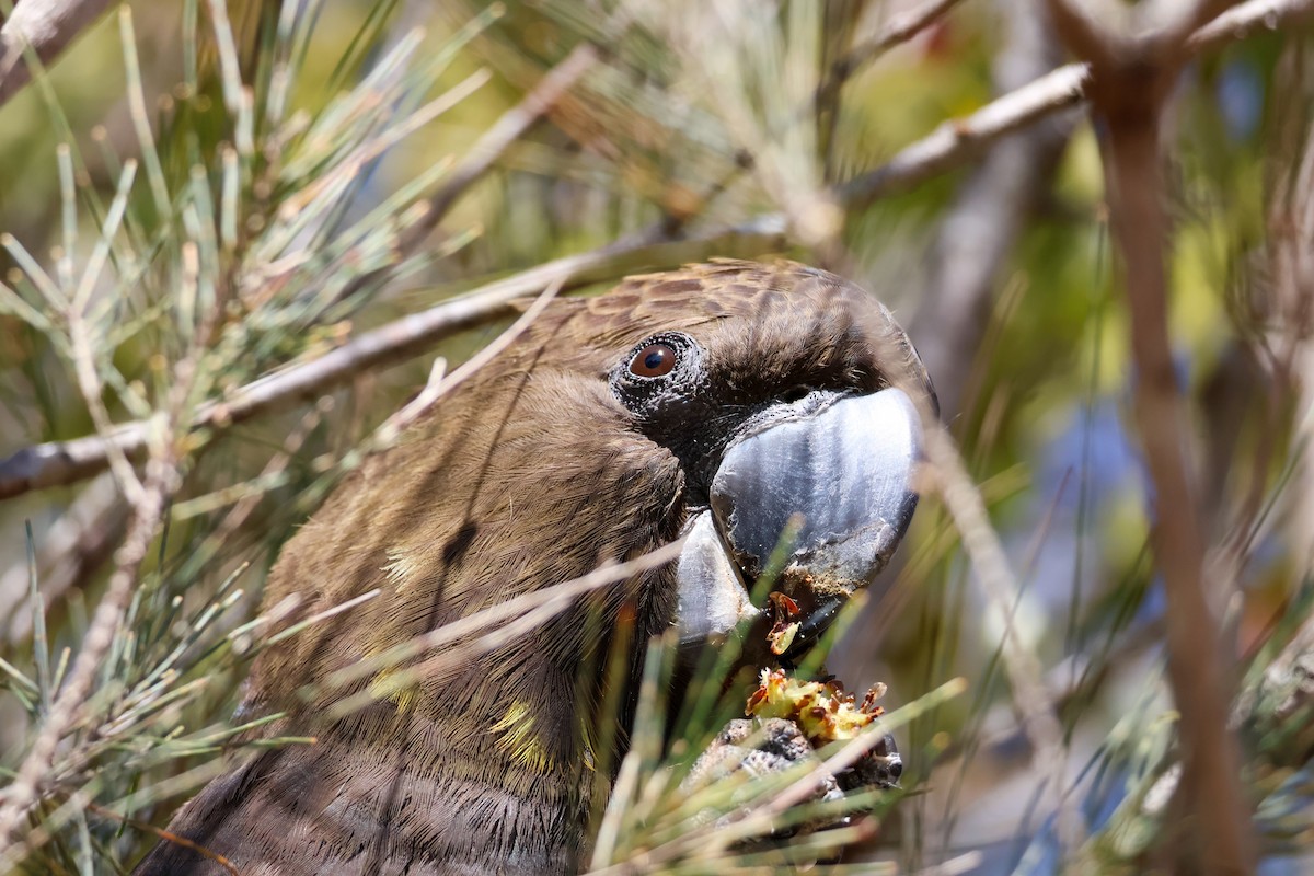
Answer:
<path fill-rule="evenodd" d="M 1180 842 L 1183 872 L 1254 872 L 1251 810 L 1240 751 L 1227 726 L 1234 690 L 1227 653 L 1206 600 L 1205 544 L 1187 457 L 1189 429 L 1168 336 L 1163 253 L 1168 222 L 1159 143 L 1160 113 L 1184 55 L 1184 39 L 1208 16 L 1206 3 L 1172 11 L 1177 33 L 1116 33 L 1067 0 L 1050 0 L 1064 41 L 1095 64 L 1091 99 L 1108 123 L 1110 221 L 1126 271 L 1134 411 L 1154 493 L 1151 540 L 1168 599 L 1168 679 L 1180 712 L 1183 781 L 1177 801 L 1192 814 Z M 1137 8 L 1148 17 L 1160 7 Z M 1193 842 L 1192 842 L 1193 841 Z"/>

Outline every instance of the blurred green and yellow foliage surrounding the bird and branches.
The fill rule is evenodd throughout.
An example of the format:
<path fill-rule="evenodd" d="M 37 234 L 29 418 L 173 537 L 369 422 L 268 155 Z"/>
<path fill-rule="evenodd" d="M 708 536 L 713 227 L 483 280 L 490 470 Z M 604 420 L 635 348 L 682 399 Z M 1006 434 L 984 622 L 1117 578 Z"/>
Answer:
<path fill-rule="evenodd" d="M 1171 833 L 1144 799 L 1173 763 L 1148 546 L 1154 515 L 1172 510 L 1155 507 L 1131 427 L 1102 133 L 1058 106 L 938 172 L 845 197 L 844 184 L 946 120 L 1064 60 L 1039 4 L 967 0 L 865 53 L 838 97 L 816 97 L 837 60 L 920 5 L 234 0 L 225 24 L 222 4 L 126 3 L 0 106 L 0 280 L 12 290 L 0 299 L 0 456 L 96 429 L 68 322 L 39 317 L 68 298 L 91 327 L 108 420 L 172 410 L 187 423 L 260 374 L 577 253 L 602 248 L 569 277 L 586 293 L 716 255 L 824 264 L 895 310 L 938 382 L 1017 575 L 1014 623 L 1058 704 L 1084 837 L 1059 844 L 1045 767 L 1000 671 L 1000 624 L 926 500 L 890 573 L 899 587 L 851 620 L 830 668 L 858 690 L 890 683 L 891 705 L 955 676 L 968 691 L 897 732 L 909 793 L 865 854 L 912 869 L 957 862 L 945 872 L 1046 872 L 1060 859 L 1138 872 Z M 435 201 L 451 168 L 586 45 L 598 56 L 547 118 Z M 1309 47 L 1309 29 L 1284 22 L 1210 50 L 1163 120 L 1173 353 L 1219 570 L 1209 598 L 1246 678 L 1236 724 L 1254 730 L 1247 781 L 1269 872 L 1300 871 L 1311 829 L 1307 741 L 1282 730 L 1290 712 L 1256 705 L 1276 696 L 1267 670 L 1302 665 L 1288 644 L 1310 605 L 1314 376 L 1298 317 L 1311 289 L 1279 267 L 1284 240 L 1310 243 L 1292 218 L 1310 197 Z M 445 112 L 394 141 L 453 89 Z M 96 257 L 108 268 L 72 294 Z M 435 355 L 455 365 L 510 318 L 491 309 L 420 356 L 231 426 L 218 418 L 179 445 L 164 533 L 134 575 L 138 628 L 120 630 L 95 684 L 104 720 L 75 728 L 57 758 L 39 810 L 54 839 L 29 869 L 114 872 L 150 842 L 116 816 L 164 823 L 213 775 L 279 545 L 376 445 Z M 184 380 L 180 362 L 196 374 Z M 179 386 L 185 398 L 171 402 Z M 0 502 L 11 770 L 106 592 L 127 520 L 109 474 Z M 141 713 L 125 691 L 143 692 Z"/>

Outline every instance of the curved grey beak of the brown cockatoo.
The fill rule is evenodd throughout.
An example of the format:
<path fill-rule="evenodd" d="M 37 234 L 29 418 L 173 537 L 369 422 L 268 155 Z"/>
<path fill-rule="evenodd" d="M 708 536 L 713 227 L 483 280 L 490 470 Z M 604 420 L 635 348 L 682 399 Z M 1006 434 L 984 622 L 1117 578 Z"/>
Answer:
<path fill-rule="evenodd" d="M 798 653 L 820 636 L 907 532 L 921 444 L 917 408 L 894 387 L 781 406 L 769 426 L 740 437 L 712 478 L 711 508 L 686 529 L 681 641 L 715 641 L 758 617 L 749 591 L 777 545 L 784 562 L 771 588 L 799 612 L 773 650 Z"/>

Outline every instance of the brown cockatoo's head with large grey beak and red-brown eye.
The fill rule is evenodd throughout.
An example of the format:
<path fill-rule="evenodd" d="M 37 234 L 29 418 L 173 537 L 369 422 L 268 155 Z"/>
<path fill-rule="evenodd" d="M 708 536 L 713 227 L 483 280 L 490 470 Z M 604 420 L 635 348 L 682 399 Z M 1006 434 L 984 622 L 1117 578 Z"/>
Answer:
<path fill-rule="evenodd" d="M 267 604 L 382 595 L 263 655 L 248 701 L 681 536 L 678 561 L 402 704 L 449 721 L 440 704 L 460 703 L 487 726 L 507 697 L 574 703 L 565 679 L 610 644 L 618 612 L 635 641 L 673 624 L 686 644 L 725 637 L 762 615 L 749 594 L 778 546 L 796 654 L 908 527 L 918 405 L 934 393 L 904 332 L 824 271 L 723 260 L 553 301 L 285 545 Z"/>

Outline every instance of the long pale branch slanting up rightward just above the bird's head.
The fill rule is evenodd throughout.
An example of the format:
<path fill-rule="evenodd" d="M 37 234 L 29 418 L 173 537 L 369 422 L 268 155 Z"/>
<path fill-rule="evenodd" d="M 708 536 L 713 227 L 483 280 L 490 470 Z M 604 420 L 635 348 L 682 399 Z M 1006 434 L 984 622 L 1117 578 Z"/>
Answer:
<path fill-rule="evenodd" d="M 1226 29 L 1214 25 L 1204 28 L 1200 34 L 1205 38 L 1188 42 L 1187 46 L 1189 50 L 1213 47 L 1226 35 L 1244 35 L 1248 29 L 1260 24 L 1279 26 L 1289 18 L 1309 13 L 1311 7 L 1314 0 L 1251 0 L 1230 13 Z M 963 120 L 946 122 L 929 137 L 901 150 L 887 164 L 840 186 L 837 197 L 845 206 L 861 208 L 871 200 L 912 188 L 936 173 L 958 167 L 995 139 L 1079 104 L 1084 99 L 1088 75 L 1085 64 L 1068 64 L 987 104 Z M 447 201 L 445 197 L 435 197 L 438 201 Z M 608 272 L 608 265 L 614 268 L 632 264 L 637 268 L 710 255 L 759 255 L 779 250 L 787 240 L 782 218 L 767 214 L 744 225 L 712 229 L 687 239 L 648 234 L 593 252 L 566 256 L 506 281 L 490 284 L 466 298 L 389 323 L 322 359 L 248 383 L 235 393 L 235 401 L 204 407 L 193 427 L 225 424 L 217 412 L 226 412 L 234 420 L 246 419 L 272 405 L 313 395 L 327 386 L 344 382 L 360 370 L 410 359 L 443 338 L 502 315 L 507 311 L 509 301 L 532 294 L 552 282 L 558 273 L 569 277 L 562 288 L 568 292 L 615 277 L 615 271 Z M 24 448 L 0 460 L 0 499 L 74 483 L 101 471 L 106 465 L 105 440 L 93 435 L 72 441 L 51 441 Z M 113 433 L 112 440 L 127 456 L 139 453 L 145 447 L 145 426 L 126 423 Z"/>

